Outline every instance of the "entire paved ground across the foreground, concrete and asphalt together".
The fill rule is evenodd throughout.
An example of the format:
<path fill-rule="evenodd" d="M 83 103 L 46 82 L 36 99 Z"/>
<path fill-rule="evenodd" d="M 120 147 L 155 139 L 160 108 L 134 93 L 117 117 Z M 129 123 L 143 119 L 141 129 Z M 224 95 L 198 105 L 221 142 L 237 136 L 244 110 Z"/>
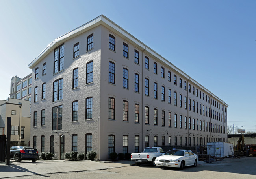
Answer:
<path fill-rule="evenodd" d="M 0 178 L 19 177 L 32 178 L 232 178 L 255 179 L 256 157 L 242 157 L 240 159 L 224 159 L 215 163 L 198 162 L 198 166 L 176 168 L 158 168 L 148 165 L 135 166 L 130 161 L 101 163 L 95 161 L 22 161 L 12 162 L 10 166 L 0 164 Z"/>

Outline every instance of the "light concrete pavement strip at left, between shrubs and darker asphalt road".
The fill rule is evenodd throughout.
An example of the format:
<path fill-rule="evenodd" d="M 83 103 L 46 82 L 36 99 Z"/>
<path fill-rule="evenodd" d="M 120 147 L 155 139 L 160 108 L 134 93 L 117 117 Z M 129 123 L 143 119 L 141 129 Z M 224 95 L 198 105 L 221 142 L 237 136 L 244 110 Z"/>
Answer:
<path fill-rule="evenodd" d="M 120 161 L 111 163 L 95 162 L 90 160 L 85 161 L 40 161 L 36 163 L 31 161 L 11 162 L 9 166 L 5 163 L 0 163 L 0 178 L 11 178 L 28 175 L 43 175 L 63 172 L 80 172 L 88 170 L 104 170 L 108 168 L 118 168 L 130 166 L 134 164 L 131 161 Z"/>

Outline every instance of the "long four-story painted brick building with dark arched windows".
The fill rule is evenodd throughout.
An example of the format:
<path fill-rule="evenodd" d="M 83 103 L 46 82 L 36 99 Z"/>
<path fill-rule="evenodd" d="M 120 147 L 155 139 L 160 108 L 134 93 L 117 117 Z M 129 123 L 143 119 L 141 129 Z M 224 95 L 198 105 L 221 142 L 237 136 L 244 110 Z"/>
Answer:
<path fill-rule="evenodd" d="M 227 141 L 228 105 L 104 15 L 56 38 L 29 68 L 39 152 L 95 150 L 105 160 Z"/>

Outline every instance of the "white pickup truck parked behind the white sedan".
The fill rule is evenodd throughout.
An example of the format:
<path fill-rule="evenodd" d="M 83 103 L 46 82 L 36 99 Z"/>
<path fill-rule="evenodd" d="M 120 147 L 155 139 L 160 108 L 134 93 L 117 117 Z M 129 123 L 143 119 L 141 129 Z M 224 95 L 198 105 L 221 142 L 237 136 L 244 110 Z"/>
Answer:
<path fill-rule="evenodd" d="M 150 163 L 152 166 L 155 166 L 156 157 L 165 154 L 161 147 L 146 147 L 144 152 L 141 153 L 132 153 L 131 161 L 135 162 L 136 166 L 140 166 L 144 163 Z"/>

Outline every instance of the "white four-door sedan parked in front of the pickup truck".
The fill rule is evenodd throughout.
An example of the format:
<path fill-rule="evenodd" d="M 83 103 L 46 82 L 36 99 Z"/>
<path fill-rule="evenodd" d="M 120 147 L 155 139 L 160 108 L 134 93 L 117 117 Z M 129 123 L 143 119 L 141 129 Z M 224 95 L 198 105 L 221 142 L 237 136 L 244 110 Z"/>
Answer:
<path fill-rule="evenodd" d="M 169 150 L 164 155 L 156 157 L 155 164 L 159 168 L 179 167 L 183 170 L 184 166 L 197 166 L 198 156 L 191 150 Z"/>

